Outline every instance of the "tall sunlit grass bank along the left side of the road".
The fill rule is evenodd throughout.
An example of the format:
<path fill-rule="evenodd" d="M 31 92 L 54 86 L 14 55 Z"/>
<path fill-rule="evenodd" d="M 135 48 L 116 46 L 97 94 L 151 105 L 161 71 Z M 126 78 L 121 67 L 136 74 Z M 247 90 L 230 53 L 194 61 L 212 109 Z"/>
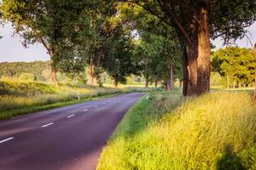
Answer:
<path fill-rule="evenodd" d="M 98 88 L 83 84 L 58 87 L 44 82 L 26 82 L 3 78 L 0 81 L 0 118 L 23 114 L 31 108 L 58 102 L 84 100 L 96 96 L 123 93 L 119 88 Z M 27 110 L 27 111 L 26 111 Z"/>

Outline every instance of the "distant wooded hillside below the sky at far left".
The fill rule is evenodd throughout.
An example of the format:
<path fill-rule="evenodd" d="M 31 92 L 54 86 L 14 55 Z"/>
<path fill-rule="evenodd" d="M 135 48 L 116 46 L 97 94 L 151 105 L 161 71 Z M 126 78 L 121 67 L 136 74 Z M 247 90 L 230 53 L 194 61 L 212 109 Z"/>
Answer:
<path fill-rule="evenodd" d="M 34 75 L 37 81 L 47 81 L 50 77 L 50 61 L 0 63 L 0 77 L 20 77 L 24 73 Z"/>

